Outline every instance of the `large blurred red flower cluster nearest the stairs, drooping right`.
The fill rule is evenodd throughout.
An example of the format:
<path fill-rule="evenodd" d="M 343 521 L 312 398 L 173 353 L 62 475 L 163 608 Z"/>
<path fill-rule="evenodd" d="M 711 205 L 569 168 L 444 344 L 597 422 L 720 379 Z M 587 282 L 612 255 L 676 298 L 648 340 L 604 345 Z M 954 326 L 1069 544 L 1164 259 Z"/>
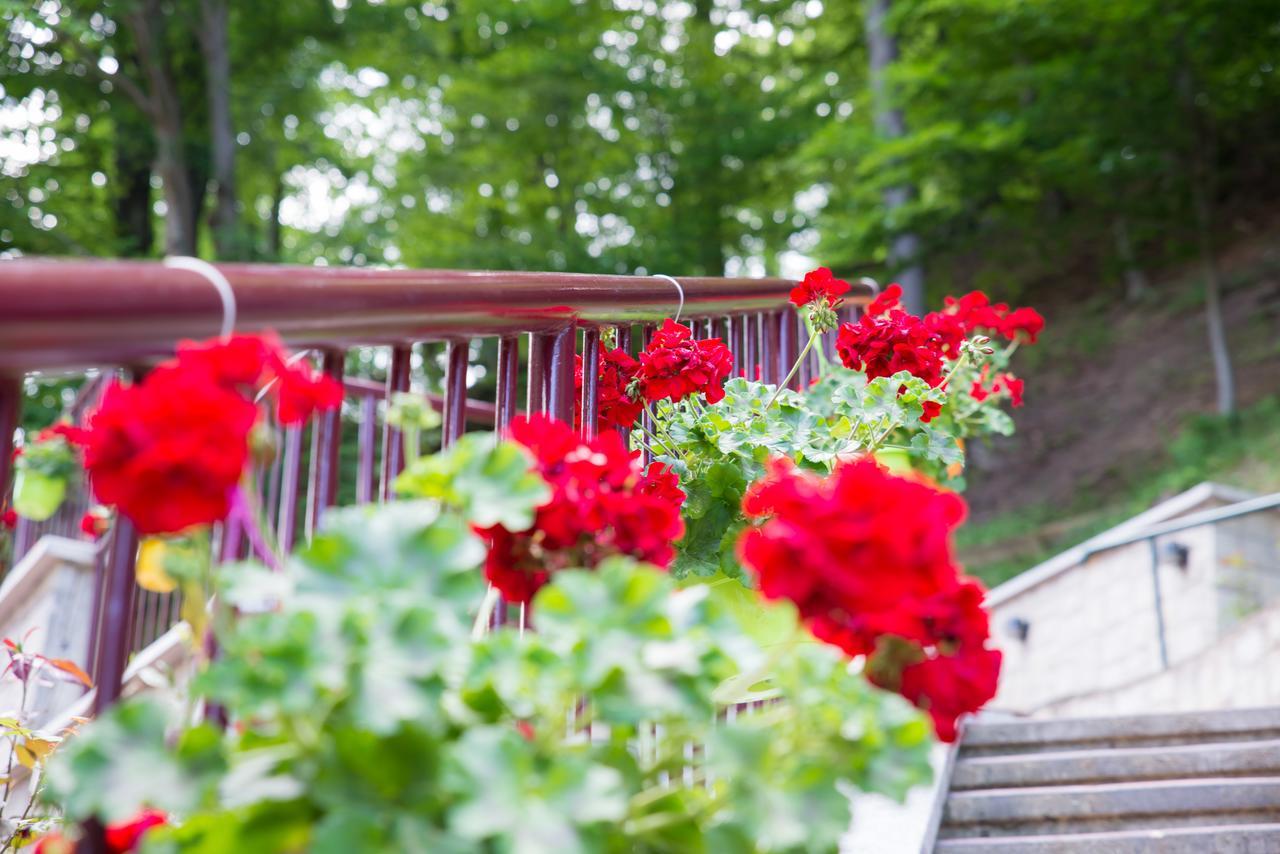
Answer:
<path fill-rule="evenodd" d="M 927 709 L 940 737 L 995 695 L 1000 652 L 986 645 L 982 588 L 951 553 L 957 495 L 872 460 L 826 479 L 778 460 L 742 510 L 765 519 L 739 540 L 760 593 L 794 602 L 818 639 L 868 656 L 872 681 Z"/>

